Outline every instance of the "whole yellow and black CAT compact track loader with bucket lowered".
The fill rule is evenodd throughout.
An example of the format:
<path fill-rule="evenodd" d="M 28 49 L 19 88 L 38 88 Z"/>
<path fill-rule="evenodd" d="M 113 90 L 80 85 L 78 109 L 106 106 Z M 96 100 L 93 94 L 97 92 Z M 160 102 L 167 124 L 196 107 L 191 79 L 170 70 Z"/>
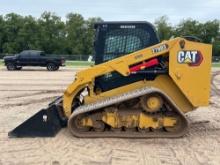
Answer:
<path fill-rule="evenodd" d="M 212 46 L 195 37 L 160 42 L 147 22 L 95 25 L 95 66 L 63 96 L 9 132 L 50 137 L 180 137 L 185 113 L 209 104 Z"/>

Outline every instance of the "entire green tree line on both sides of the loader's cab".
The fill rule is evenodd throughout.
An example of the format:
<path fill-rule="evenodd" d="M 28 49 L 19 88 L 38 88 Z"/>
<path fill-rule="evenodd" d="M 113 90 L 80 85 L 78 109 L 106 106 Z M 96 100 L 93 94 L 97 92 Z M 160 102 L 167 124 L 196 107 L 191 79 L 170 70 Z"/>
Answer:
<path fill-rule="evenodd" d="M 93 54 L 94 23 L 100 17 L 84 19 L 76 13 L 67 14 L 65 20 L 55 13 L 44 12 L 40 18 L 15 13 L 0 15 L 0 54 L 12 54 L 26 49 L 44 50 L 49 54 Z M 186 19 L 172 25 L 168 17 L 155 20 L 161 40 L 178 36 L 196 36 L 212 43 L 213 54 L 220 56 L 220 21 L 201 23 Z"/>

